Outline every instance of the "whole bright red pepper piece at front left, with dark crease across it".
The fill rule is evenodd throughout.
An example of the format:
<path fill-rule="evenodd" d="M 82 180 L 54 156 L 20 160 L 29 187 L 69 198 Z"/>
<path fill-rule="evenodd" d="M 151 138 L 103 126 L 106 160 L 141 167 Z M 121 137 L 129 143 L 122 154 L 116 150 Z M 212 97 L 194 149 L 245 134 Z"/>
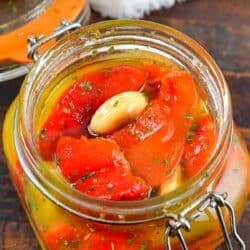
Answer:
<path fill-rule="evenodd" d="M 110 139 L 61 137 L 56 159 L 65 178 L 85 194 L 108 200 L 150 195 L 150 186 L 131 174 L 123 153 Z"/>

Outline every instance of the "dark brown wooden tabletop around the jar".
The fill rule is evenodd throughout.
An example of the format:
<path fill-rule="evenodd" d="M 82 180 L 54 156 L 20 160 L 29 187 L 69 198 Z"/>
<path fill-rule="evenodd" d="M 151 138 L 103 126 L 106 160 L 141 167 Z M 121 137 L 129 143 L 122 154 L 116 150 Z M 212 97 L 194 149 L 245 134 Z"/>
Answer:
<path fill-rule="evenodd" d="M 204 46 L 215 58 L 231 90 L 234 119 L 250 149 L 250 0 L 189 0 L 153 12 L 147 20 L 172 26 Z M 91 22 L 102 20 L 92 13 Z M 21 80 L 0 83 L 0 134 L 8 105 Z M 0 136 L 1 139 L 1 136 Z M 2 140 L 1 140 L 2 141 Z M 250 198 L 239 224 L 250 247 Z M 202 247 L 201 247 L 202 248 Z M 39 249 L 12 187 L 0 142 L 0 249 Z"/>

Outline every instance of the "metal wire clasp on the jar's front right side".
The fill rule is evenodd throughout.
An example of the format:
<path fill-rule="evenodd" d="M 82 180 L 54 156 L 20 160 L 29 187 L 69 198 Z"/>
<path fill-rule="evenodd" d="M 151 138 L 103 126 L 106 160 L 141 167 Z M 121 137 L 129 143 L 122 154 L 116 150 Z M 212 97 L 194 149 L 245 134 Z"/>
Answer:
<path fill-rule="evenodd" d="M 190 206 L 185 208 L 179 215 L 174 215 L 174 214 L 168 215 L 170 220 L 168 221 L 167 229 L 165 232 L 166 250 L 172 249 L 170 238 L 173 237 L 178 238 L 181 248 L 183 250 L 188 249 L 184 236 L 182 235 L 181 229 L 189 232 L 191 230 L 190 222 L 200 217 L 207 208 L 215 209 L 225 238 L 227 249 L 233 250 L 232 242 L 230 240 L 230 236 L 227 231 L 227 227 L 221 210 L 221 208 L 223 207 L 225 207 L 228 210 L 230 216 L 232 236 L 238 242 L 240 249 L 245 250 L 246 246 L 236 230 L 234 209 L 232 205 L 226 200 L 226 198 L 227 198 L 227 193 L 223 193 L 220 195 L 215 192 L 208 192 L 202 197 L 195 200 Z M 191 216 L 185 217 L 187 213 L 191 212 L 194 209 L 196 211 Z"/>

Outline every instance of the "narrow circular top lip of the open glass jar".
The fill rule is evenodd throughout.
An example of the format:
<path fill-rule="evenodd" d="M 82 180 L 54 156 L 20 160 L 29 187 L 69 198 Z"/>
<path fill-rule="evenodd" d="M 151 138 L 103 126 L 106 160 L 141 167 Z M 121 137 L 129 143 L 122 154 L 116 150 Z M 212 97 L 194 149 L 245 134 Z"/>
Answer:
<path fill-rule="evenodd" d="M 27 126 L 28 120 L 25 118 L 24 114 L 27 114 L 28 111 L 28 103 L 27 99 L 32 91 L 32 86 L 36 80 L 37 75 L 41 73 L 43 69 L 43 65 L 51 60 L 52 52 L 60 47 L 63 44 L 67 43 L 72 37 L 84 36 L 91 31 L 96 31 L 100 29 L 140 29 L 146 28 L 152 31 L 152 35 L 155 35 L 157 32 L 159 34 L 163 34 L 165 36 L 169 36 L 172 38 L 172 42 L 175 46 L 182 46 L 186 47 L 186 50 L 192 50 L 196 56 L 202 55 L 203 63 L 206 63 L 204 66 L 197 64 L 197 67 L 205 67 L 206 74 L 210 72 L 210 74 L 214 74 L 214 79 L 218 81 L 220 84 L 220 91 L 221 91 L 221 99 L 223 105 L 223 114 L 221 114 L 220 120 L 218 122 L 219 128 L 219 136 L 216 147 L 211 154 L 210 159 L 208 160 L 206 166 L 203 170 L 197 174 L 192 179 L 185 182 L 183 185 L 178 187 L 176 190 L 165 194 L 163 196 L 156 196 L 147 200 L 136 200 L 136 201 L 109 201 L 98 199 L 95 197 L 90 197 L 85 194 L 79 193 L 76 190 L 68 187 L 64 189 L 63 192 L 53 183 L 49 182 L 44 175 L 44 172 L 41 173 L 38 171 L 37 168 L 37 156 L 32 155 L 32 143 L 31 143 L 31 136 L 29 135 L 29 126 Z M 156 34 L 158 37 L 157 39 L 163 39 L 164 37 L 160 37 L 159 34 Z M 145 34 L 144 34 L 145 36 Z M 137 37 L 138 38 L 138 37 Z M 170 39 L 171 40 L 171 39 Z M 179 44 L 177 44 L 179 42 Z M 184 47 L 183 47 L 184 48 Z M 182 49 L 183 49 L 182 48 Z M 185 51 L 186 51 L 185 50 Z M 193 61 L 196 63 L 196 61 Z M 21 104 L 21 105 L 20 105 Z M 26 106 L 25 106 L 26 105 Z M 19 134 L 16 131 L 14 138 L 16 149 L 18 153 L 18 157 L 21 161 L 21 164 L 31 180 L 31 182 L 50 200 L 58 204 L 59 206 L 67 209 L 74 214 L 77 214 L 81 217 L 88 218 L 95 221 L 100 221 L 104 223 L 117 223 L 117 224 L 124 224 L 124 220 L 119 219 L 119 215 L 129 215 L 131 212 L 137 215 L 140 215 L 142 211 L 154 211 L 157 208 L 168 208 L 173 206 L 179 202 L 181 202 L 184 198 L 187 198 L 194 193 L 199 192 L 199 188 L 202 185 L 208 185 L 211 183 L 211 178 L 214 174 L 216 167 L 220 161 L 223 161 L 225 155 L 228 150 L 228 145 L 231 142 L 231 132 L 232 132 L 232 113 L 231 113 L 231 102 L 230 102 L 230 95 L 229 90 L 227 88 L 227 84 L 225 79 L 220 71 L 219 67 L 212 59 L 212 57 L 195 41 L 193 41 L 188 36 L 182 34 L 181 32 L 172 29 L 170 27 L 148 22 L 148 21 L 141 21 L 141 20 L 115 20 L 115 21 L 106 21 L 101 23 L 95 23 L 89 26 L 85 26 L 80 28 L 79 30 L 73 32 L 70 35 L 67 35 L 60 41 L 58 41 L 54 46 L 52 46 L 47 52 L 45 52 L 39 60 L 35 63 L 33 68 L 31 69 L 30 73 L 27 75 L 24 84 L 22 85 L 20 96 L 19 96 L 19 107 L 18 112 L 16 115 L 16 129 L 19 130 Z M 25 140 L 24 140 L 25 138 Z M 223 151 L 223 152 L 222 152 Z M 69 185 L 68 185 L 69 186 Z M 65 187 L 64 187 L 65 188 Z M 69 202 L 70 201 L 70 204 Z M 91 208 L 96 211 L 107 211 L 107 213 L 117 214 L 118 219 L 107 220 L 95 216 L 89 216 L 82 213 L 82 208 Z M 162 210 L 163 211 L 163 210 Z M 164 212 L 165 213 L 165 212 Z M 148 220 L 157 220 L 164 216 L 164 213 L 158 216 L 152 216 Z M 145 221 L 145 219 L 132 219 L 128 223 L 141 223 Z"/>

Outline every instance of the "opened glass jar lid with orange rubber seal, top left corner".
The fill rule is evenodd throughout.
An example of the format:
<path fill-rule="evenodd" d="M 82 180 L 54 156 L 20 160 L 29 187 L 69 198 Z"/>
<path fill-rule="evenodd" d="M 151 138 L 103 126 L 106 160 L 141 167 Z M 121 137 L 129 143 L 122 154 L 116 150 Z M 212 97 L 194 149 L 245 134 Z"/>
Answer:
<path fill-rule="evenodd" d="M 62 19 L 84 24 L 89 14 L 85 0 L 9 0 L 1 1 L 0 9 L 0 82 L 28 72 L 32 62 L 27 58 L 30 35 L 53 33 Z"/>

